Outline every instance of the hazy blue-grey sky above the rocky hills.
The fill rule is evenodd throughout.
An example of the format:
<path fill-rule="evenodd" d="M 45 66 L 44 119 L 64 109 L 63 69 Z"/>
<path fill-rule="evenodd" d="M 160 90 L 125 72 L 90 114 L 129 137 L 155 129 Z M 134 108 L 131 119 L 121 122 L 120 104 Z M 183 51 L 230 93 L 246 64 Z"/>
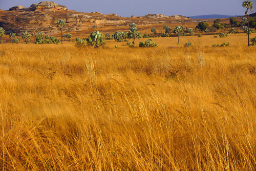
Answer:
<path fill-rule="evenodd" d="M 22 5 L 29 7 L 41 1 L 0 0 L 0 9 Z M 98 11 L 103 14 L 116 13 L 119 16 L 144 16 L 146 14 L 171 15 L 243 15 L 245 9 L 240 0 L 55 0 L 56 4 L 67 6 L 79 12 Z M 256 0 L 252 0 L 256 12 Z"/>

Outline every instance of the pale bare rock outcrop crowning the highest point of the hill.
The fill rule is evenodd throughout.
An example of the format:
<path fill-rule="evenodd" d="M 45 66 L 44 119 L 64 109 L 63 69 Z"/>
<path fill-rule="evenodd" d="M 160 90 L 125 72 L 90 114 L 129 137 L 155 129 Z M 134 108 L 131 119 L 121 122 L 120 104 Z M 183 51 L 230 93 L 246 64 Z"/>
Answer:
<path fill-rule="evenodd" d="M 39 4 L 32 4 L 29 8 L 32 8 L 35 11 L 61 11 L 67 9 L 66 6 L 57 5 L 53 1 L 43 1 Z"/>

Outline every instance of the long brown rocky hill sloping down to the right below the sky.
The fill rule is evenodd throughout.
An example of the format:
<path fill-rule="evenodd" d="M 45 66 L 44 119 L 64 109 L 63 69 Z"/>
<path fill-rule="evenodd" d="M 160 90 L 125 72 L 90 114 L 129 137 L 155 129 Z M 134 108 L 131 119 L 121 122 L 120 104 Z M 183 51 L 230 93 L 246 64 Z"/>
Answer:
<path fill-rule="evenodd" d="M 104 15 L 100 12 L 84 13 L 68 10 L 66 6 L 57 5 L 54 2 L 40 2 L 30 7 L 15 6 L 8 11 L 0 11 L 0 27 L 6 33 L 21 33 L 25 30 L 31 33 L 38 31 L 55 34 L 58 32 L 56 22 L 64 19 L 67 22 L 65 31 L 78 31 L 92 28 L 93 25 L 104 27 L 108 25 L 127 25 L 154 23 L 180 23 L 189 18 L 180 15 L 166 16 L 162 14 L 148 14 L 143 17 L 119 17 L 117 14 Z"/>

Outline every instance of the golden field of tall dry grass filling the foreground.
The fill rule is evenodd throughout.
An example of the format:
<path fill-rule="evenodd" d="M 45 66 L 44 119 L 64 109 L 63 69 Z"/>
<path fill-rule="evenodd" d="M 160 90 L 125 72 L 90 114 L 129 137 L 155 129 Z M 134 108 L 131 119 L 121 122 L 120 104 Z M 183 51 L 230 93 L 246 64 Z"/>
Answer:
<path fill-rule="evenodd" d="M 0 168 L 255 170 L 256 47 L 247 40 L 0 45 Z"/>

